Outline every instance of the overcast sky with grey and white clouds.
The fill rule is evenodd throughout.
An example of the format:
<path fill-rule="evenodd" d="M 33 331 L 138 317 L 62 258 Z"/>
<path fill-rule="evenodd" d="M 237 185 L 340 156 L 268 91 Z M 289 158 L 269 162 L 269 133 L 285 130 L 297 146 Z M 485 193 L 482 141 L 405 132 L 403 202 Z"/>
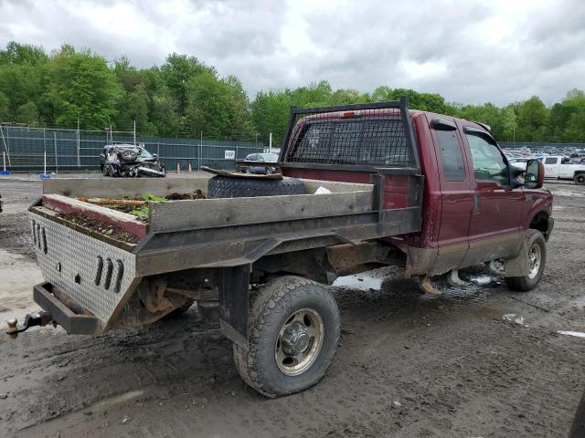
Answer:
<path fill-rule="evenodd" d="M 320 79 L 499 105 L 585 89 L 582 0 L 0 0 L 0 17 L 2 47 L 68 43 L 139 67 L 186 53 L 252 98 Z"/>

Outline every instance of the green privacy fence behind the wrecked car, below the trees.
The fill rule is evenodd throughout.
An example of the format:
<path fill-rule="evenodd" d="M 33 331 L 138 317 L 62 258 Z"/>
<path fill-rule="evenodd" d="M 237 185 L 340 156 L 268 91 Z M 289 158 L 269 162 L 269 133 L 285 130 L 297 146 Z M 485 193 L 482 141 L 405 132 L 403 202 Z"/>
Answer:
<path fill-rule="evenodd" d="M 136 144 L 156 153 L 168 170 L 176 164 L 186 171 L 200 166 L 235 169 L 236 160 L 249 153 L 263 151 L 261 142 L 173 139 L 137 135 Z M 54 130 L 0 126 L 0 151 L 5 152 L 6 169 L 12 172 L 96 171 L 100 169 L 100 151 L 105 144 L 134 143 L 133 132 Z M 0 162 L 0 169 L 3 163 Z"/>

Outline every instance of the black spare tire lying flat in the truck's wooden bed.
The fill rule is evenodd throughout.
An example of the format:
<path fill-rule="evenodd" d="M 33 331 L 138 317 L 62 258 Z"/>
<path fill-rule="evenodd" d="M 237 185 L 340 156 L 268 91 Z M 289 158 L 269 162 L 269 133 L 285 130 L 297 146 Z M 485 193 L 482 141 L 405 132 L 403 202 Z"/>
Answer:
<path fill-rule="evenodd" d="M 207 183 L 208 198 L 244 198 L 304 193 L 306 193 L 306 190 L 303 182 L 295 178 L 263 180 L 260 178 L 229 178 L 217 175 L 210 178 Z"/>

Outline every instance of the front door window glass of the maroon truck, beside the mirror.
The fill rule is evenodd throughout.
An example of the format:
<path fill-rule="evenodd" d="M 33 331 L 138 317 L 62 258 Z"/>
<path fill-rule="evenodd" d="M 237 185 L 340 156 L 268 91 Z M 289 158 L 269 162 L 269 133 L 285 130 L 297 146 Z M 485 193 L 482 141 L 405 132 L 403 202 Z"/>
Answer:
<path fill-rule="evenodd" d="M 469 149 L 472 151 L 473 172 L 477 181 L 495 181 L 502 185 L 508 183 L 508 168 L 504 155 L 495 144 L 481 137 L 467 134 Z"/>

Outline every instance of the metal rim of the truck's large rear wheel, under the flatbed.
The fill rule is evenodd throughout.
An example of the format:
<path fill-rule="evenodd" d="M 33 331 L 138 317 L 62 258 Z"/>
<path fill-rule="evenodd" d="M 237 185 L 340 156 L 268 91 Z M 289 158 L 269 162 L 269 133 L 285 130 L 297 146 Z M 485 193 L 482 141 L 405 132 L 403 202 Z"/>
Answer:
<path fill-rule="evenodd" d="M 296 310 L 279 331 L 274 358 L 287 376 L 298 376 L 313 365 L 323 346 L 323 318 L 313 308 Z"/>

